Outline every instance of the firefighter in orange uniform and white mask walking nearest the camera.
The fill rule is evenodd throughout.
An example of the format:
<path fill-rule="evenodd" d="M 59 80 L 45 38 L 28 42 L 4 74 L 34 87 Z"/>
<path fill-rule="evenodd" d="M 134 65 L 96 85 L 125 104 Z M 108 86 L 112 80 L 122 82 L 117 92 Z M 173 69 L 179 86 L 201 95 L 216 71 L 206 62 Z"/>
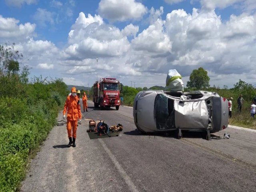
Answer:
<path fill-rule="evenodd" d="M 73 144 L 73 147 L 76 147 L 75 142 L 76 142 L 77 122 L 80 123 L 82 121 L 82 114 L 81 114 L 79 98 L 76 96 L 75 87 L 72 87 L 71 93 L 72 95 L 67 97 L 64 105 L 63 118 L 66 117 L 65 114 L 67 111 L 67 130 L 68 130 L 68 138 L 69 138 L 68 147 L 70 147 L 71 144 Z M 71 130 L 73 133 L 71 133 Z M 73 137 L 73 141 L 72 141 L 72 137 Z"/>

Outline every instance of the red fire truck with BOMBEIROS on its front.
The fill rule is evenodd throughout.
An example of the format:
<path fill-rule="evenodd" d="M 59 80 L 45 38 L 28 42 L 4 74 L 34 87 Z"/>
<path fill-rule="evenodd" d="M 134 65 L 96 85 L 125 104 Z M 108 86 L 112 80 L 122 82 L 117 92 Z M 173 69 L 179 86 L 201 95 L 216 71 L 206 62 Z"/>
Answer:
<path fill-rule="evenodd" d="M 101 109 L 120 106 L 120 82 L 116 78 L 103 78 L 93 84 L 93 102 L 94 108 L 100 106 Z"/>

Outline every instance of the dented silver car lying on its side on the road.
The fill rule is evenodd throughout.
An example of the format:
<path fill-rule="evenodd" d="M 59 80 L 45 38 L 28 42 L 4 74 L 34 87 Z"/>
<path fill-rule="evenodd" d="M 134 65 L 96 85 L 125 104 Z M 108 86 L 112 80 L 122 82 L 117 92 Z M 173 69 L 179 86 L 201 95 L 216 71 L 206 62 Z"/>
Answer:
<path fill-rule="evenodd" d="M 228 100 L 216 92 L 164 91 L 139 92 L 134 99 L 134 123 L 141 132 L 182 130 L 218 132 L 228 126 Z"/>

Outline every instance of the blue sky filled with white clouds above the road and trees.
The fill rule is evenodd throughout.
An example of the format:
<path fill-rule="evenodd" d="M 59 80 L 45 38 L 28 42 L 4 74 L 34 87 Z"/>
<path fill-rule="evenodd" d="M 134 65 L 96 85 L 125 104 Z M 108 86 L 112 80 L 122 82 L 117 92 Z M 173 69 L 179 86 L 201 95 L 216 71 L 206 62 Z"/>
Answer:
<path fill-rule="evenodd" d="M 255 10 L 251 0 L 2 0 L 0 44 L 15 42 L 31 77 L 66 84 L 165 86 L 176 69 L 186 86 L 203 67 L 211 86 L 254 85 Z"/>

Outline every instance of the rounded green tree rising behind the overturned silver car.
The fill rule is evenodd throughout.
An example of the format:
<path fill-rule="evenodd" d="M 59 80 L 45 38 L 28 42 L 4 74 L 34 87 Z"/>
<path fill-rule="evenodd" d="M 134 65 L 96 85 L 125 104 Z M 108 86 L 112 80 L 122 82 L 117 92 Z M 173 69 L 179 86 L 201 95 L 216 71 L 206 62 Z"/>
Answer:
<path fill-rule="evenodd" d="M 188 88 L 196 88 L 198 90 L 210 87 L 210 77 L 207 75 L 207 71 L 200 67 L 198 70 L 194 69 L 190 74 L 187 82 Z"/>

